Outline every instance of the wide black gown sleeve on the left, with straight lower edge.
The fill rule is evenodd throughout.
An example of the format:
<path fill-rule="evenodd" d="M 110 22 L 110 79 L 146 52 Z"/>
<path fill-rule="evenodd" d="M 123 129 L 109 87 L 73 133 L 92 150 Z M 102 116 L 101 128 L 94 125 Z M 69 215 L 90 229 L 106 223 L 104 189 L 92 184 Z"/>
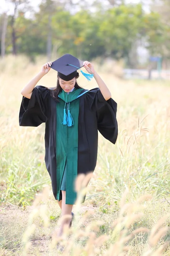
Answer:
<path fill-rule="evenodd" d="M 20 112 L 20 126 L 39 126 L 48 118 L 49 89 L 44 86 L 34 87 L 31 98 L 23 96 Z"/>

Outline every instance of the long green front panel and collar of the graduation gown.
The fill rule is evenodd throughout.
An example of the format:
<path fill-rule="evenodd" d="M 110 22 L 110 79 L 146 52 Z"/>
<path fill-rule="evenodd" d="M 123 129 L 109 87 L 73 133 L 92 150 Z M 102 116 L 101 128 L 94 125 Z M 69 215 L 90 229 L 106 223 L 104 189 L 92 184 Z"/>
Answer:
<path fill-rule="evenodd" d="M 75 191 L 75 180 L 77 178 L 78 162 L 78 118 L 79 118 L 79 97 L 87 93 L 84 89 L 75 88 L 69 94 L 62 90 L 59 93 L 57 103 L 57 130 L 56 130 L 56 158 L 57 158 L 57 199 L 62 199 L 61 190 L 66 191 L 65 203 L 75 202 L 77 192 Z M 69 115 L 74 120 L 70 127 L 63 125 L 64 115 Z"/>

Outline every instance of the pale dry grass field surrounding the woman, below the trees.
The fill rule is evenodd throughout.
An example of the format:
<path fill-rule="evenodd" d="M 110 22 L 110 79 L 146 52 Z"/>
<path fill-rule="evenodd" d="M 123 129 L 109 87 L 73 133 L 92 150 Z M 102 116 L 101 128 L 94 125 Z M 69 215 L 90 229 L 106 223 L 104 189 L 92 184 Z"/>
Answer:
<path fill-rule="evenodd" d="M 0 255 L 53 256 L 60 209 L 44 128 L 20 127 L 20 91 L 45 58 L 0 61 Z M 99 134 L 97 166 L 62 255 L 170 256 L 170 81 L 125 81 L 97 67 L 118 104 L 116 145 Z M 38 85 L 56 86 L 51 70 Z M 96 87 L 79 78 L 85 88 Z M 81 195 L 79 195 L 81 196 Z M 70 232 L 70 233 L 69 233 Z M 68 235 L 68 237 L 67 237 Z"/>

